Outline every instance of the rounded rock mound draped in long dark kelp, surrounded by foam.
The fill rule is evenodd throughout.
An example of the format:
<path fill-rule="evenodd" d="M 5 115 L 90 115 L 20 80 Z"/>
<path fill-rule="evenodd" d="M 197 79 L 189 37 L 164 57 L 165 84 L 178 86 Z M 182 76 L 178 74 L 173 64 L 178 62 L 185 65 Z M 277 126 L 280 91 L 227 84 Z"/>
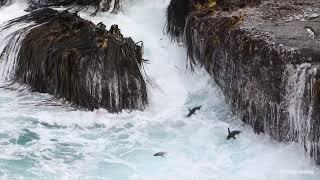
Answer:
<path fill-rule="evenodd" d="M 77 107 L 143 110 L 142 45 L 67 11 L 41 9 L 1 27 L 1 72 Z"/>

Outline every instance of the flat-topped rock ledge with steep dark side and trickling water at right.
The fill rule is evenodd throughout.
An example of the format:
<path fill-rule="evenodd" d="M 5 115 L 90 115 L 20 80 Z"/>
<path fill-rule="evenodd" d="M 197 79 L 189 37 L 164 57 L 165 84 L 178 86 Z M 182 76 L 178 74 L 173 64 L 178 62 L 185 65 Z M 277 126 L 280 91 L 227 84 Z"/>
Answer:
<path fill-rule="evenodd" d="M 296 141 L 320 164 L 320 2 L 194 9 L 182 28 L 191 67 L 212 75 L 255 132 Z"/>

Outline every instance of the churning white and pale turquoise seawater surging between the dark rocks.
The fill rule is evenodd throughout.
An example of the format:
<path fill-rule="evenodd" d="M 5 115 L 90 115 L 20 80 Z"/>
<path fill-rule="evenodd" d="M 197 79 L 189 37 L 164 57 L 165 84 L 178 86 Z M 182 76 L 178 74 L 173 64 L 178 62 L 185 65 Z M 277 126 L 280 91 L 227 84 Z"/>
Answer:
<path fill-rule="evenodd" d="M 0 179 L 320 179 L 299 145 L 254 134 L 230 113 L 204 70 L 186 70 L 185 47 L 163 34 L 168 3 L 135 0 L 119 15 L 80 13 L 96 24 L 119 24 L 123 34 L 143 41 L 152 81 L 144 112 L 80 111 L 23 87 L 0 89 Z M 26 14 L 26 7 L 2 7 L 0 22 Z M 5 41 L 0 36 L 0 47 Z M 8 68 L 0 71 L 5 77 Z M 228 127 L 241 130 L 236 140 L 226 141 Z M 153 156 L 157 152 L 166 156 Z"/>

